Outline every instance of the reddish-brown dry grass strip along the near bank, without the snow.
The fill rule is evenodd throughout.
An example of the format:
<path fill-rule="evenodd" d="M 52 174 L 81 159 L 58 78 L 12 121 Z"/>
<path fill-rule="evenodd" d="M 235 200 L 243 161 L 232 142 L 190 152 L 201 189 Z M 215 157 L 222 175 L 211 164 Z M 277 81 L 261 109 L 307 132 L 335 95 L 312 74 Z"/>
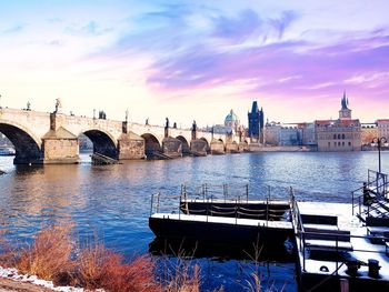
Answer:
<path fill-rule="evenodd" d="M 126 263 L 123 255 L 100 243 L 76 249 L 72 224 L 43 228 L 31 245 L 0 254 L 0 264 L 14 266 L 20 273 L 34 274 L 54 284 L 104 289 L 112 292 L 199 292 L 200 268 L 179 258 L 170 266 L 163 283 L 156 280 L 156 264 L 149 255 Z M 3 245 L 0 232 L 0 245 Z M 2 249 L 3 250 L 3 249 Z M 76 251 L 77 250 L 77 255 Z M 168 260 L 166 260 L 168 262 Z M 220 290 L 221 291 L 221 290 Z"/>

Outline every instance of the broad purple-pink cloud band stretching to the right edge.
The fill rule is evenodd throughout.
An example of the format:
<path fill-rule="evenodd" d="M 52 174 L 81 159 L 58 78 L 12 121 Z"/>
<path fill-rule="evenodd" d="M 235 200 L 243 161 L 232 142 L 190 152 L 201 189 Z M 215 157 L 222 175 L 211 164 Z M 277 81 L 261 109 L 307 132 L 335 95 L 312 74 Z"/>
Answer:
<path fill-rule="evenodd" d="M 375 87 L 388 78 L 388 36 L 340 42 L 309 49 L 306 42 L 278 42 L 239 51 L 218 51 L 208 46 L 188 48 L 179 56 L 162 58 L 152 64 L 148 83 L 163 90 L 200 90 L 229 84 L 236 80 L 257 80 L 249 92 L 277 94 L 339 93 L 347 88 L 366 90 L 357 81 Z M 371 46 L 375 43 L 375 46 Z M 358 72 L 372 77 L 350 78 Z M 310 93 L 309 93 L 310 92 Z M 242 95 L 246 94 L 242 91 Z"/>

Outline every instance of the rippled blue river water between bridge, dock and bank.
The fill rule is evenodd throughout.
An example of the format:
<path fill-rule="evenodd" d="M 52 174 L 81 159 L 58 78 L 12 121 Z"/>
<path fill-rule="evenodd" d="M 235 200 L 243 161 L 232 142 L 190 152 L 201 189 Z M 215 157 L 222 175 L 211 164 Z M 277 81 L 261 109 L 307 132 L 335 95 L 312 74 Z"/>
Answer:
<path fill-rule="evenodd" d="M 388 173 L 389 152 L 381 155 Z M 148 228 L 152 193 L 176 195 L 182 183 L 248 183 L 251 198 L 271 185 L 272 197 L 292 187 L 298 200 L 350 202 L 350 191 L 361 187 L 368 169 L 378 168 L 377 152 L 241 153 L 104 167 L 89 160 L 82 155 L 76 165 L 14 167 L 12 158 L 0 157 L 0 169 L 7 171 L 0 175 L 0 222 L 7 236 L 24 242 L 47 222 L 71 221 L 80 238 L 98 234 L 108 248 L 131 256 L 148 252 L 154 238 Z M 220 285 L 243 291 L 252 269 L 237 260 L 196 261 L 206 291 Z M 293 263 L 260 269 L 265 283 L 296 291 Z"/>

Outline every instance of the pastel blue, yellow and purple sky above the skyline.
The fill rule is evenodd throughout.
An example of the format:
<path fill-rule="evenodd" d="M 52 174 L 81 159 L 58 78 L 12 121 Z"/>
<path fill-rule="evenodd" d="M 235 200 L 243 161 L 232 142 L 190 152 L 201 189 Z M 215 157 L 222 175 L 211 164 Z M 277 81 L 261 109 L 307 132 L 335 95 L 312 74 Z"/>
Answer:
<path fill-rule="evenodd" d="M 178 125 L 389 118 L 387 0 L 0 0 L 0 105 Z"/>

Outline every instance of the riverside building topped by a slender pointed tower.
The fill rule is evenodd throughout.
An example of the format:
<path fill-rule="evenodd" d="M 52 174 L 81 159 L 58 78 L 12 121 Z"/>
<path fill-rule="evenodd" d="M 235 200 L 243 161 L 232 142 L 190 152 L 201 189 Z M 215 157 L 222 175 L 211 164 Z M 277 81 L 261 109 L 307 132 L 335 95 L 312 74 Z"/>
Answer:
<path fill-rule="evenodd" d="M 361 123 L 351 118 L 349 101 L 343 93 L 338 120 L 315 121 L 319 151 L 361 150 Z"/>

